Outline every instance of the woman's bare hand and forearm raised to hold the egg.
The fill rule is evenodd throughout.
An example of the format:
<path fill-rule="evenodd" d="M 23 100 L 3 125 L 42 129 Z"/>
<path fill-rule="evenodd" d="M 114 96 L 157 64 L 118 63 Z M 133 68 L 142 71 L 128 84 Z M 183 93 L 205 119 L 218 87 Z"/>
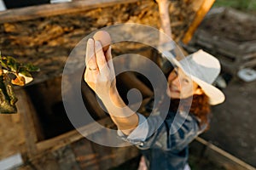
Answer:
<path fill-rule="evenodd" d="M 125 134 L 137 127 L 138 116 L 125 105 L 116 88 L 111 47 L 103 52 L 99 41 L 89 39 L 86 48 L 86 70 L 84 81 L 102 99 L 109 115 L 118 128 Z"/>

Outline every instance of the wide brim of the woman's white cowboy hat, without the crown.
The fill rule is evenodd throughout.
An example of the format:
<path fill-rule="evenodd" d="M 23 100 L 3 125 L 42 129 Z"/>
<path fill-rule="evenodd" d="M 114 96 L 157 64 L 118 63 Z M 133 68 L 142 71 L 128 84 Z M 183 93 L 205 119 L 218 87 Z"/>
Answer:
<path fill-rule="evenodd" d="M 167 54 L 166 58 L 169 59 L 173 65 L 176 65 L 177 67 L 179 67 L 188 77 L 191 77 L 191 79 L 201 87 L 204 93 L 207 94 L 210 105 L 218 105 L 224 102 L 225 96 L 218 88 L 212 86 L 212 84 L 204 82 L 201 79 L 189 74 L 189 72 L 185 71 L 183 69 L 183 66 L 180 65 L 177 59 L 175 59 L 172 55 L 170 56 Z"/>

